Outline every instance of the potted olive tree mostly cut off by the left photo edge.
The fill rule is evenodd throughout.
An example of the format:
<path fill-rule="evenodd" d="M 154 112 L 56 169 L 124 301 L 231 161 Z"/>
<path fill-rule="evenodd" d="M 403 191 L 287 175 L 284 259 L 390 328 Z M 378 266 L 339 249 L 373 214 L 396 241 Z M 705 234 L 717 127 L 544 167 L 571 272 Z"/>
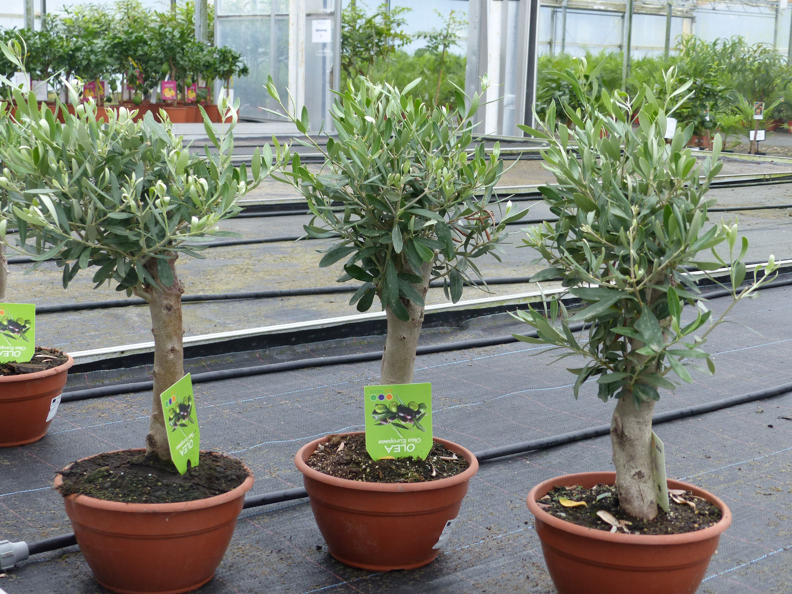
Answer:
<path fill-rule="evenodd" d="M 0 49 L 6 59 L 22 72 L 25 72 L 24 45 L 24 40 L 22 44 L 16 40 L 8 45 L 0 42 Z M 10 87 L 10 81 L 2 75 L 0 84 Z M 9 93 L 9 99 L 7 103 L 0 101 L 0 145 L 18 147 L 22 125 L 17 122 L 17 107 L 13 105 L 21 105 L 23 109 L 28 101 L 36 105 L 36 96 L 34 93 L 25 95 L 16 89 L 13 95 Z M 42 117 L 44 114 L 49 120 L 54 120 L 50 109 L 44 107 Z M 3 173 L 0 175 L 0 303 L 10 301 L 13 295 L 8 287 L 6 260 L 7 234 L 15 226 L 11 204 L 12 201 L 24 203 L 27 200 L 13 191 L 8 185 L 6 171 Z M 26 342 L 30 342 L 29 337 L 34 333 L 30 332 L 32 324 L 29 319 L 19 316 L 24 308 L 14 306 L 14 309 L 16 313 L 10 308 L 0 307 L 0 350 L 4 354 L 6 348 L 13 345 L 13 341 L 7 339 L 24 337 Z M 3 357 L 7 363 L 0 365 L 0 447 L 30 444 L 44 437 L 57 413 L 68 370 L 74 364 L 74 360 L 65 352 L 36 347 L 35 342 L 32 347 L 32 358 L 11 351 Z"/>

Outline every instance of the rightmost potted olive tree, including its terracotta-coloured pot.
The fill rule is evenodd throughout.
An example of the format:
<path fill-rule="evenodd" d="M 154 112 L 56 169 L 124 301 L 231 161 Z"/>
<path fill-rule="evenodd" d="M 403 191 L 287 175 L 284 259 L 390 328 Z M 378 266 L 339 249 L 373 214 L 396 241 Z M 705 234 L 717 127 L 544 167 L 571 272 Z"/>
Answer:
<path fill-rule="evenodd" d="M 692 381 L 696 361 L 714 372 L 707 337 L 735 303 L 756 296 L 777 267 L 770 257 L 752 284 L 741 287 L 748 240 L 738 242 L 736 224 L 708 224 L 715 201 L 706 192 L 722 166 L 720 137 L 703 162 L 684 148 L 692 124 L 670 143 L 664 139 L 672 104 L 683 101 L 687 85 L 676 88 L 666 74 L 664 101 L 647 87 L 636 97 L 600 93 L 596 79 L 581 82 L 584 69 L 581 60 L 577 73 L 566 74 L 581 102 L 576 110 L 564 105 L 569 125 L 558 123 L 551 105 L 539 119 L 542 131 L 521 127 L 550 144 L 543 158 L 558 181 L 540 188 L 558 222 L 531 227 L 524 239 L 550 265 L 535 279 L 562 276 L 582 309 L 568 312 L 557 303 L 550 319 L 518 312 L 538 337 L 516 337 L 551 345 L 561 358 L 573 356 L 576 397 L 583 383 L 596 379 L 599 397 L 615 400 L 615 473 L 551 479 L 532 489 L 527 503 L 559 592 L 695 592 L 730 514 L 714 495 L 675 481 L 668 481 L 673 514 L 666 513 L 664 471 L 653 466 L 653 448 L 660 447 L 652 432 L 654 405 L 659 390 L 676 387 L 673 375 Z M 714 249 L 724 243 L 725 258 Z M 714 262 L 699 261 L 708 250 Z M 732 301 L 719 317 L 707 309 L 691 266 L 729 268 Z M 588 322 L 588 336 L 576 337 L 570 322 Z M 665 510 L 658 512 L 658 503 Z M 680 510 L 696 505 L 700 515 L 684 524 Z"/>

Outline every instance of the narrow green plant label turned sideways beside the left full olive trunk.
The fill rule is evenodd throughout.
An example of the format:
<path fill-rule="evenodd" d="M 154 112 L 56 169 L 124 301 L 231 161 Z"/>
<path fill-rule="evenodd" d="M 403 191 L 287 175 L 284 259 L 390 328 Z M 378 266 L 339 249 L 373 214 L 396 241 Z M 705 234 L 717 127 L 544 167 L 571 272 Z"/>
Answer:
<path fill-rule="evenodd" d="M 173 464 L 181 474 L 187 472 L 187 461 L 198 466 L 200 430 L 196 406 L 192 397 L 192 378 L 189 374 L 160 394 L 162 413 L 168 431 L 168 444 Z"/>

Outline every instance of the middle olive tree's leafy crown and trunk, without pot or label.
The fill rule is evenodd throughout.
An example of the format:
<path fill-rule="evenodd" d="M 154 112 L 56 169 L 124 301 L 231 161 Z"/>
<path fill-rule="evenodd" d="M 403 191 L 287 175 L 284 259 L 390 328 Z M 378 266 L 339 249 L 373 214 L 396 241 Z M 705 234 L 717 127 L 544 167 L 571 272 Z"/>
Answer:
<path fill-rule="evenodd" d="M 272 79 L 267 89 L 287 112 Z M 307 198 L 314 215 L 307 236 L 332 238 L 319 266 L 345 260 L 339 282 L 363 281 L 350 304 L 367 311 L 376 297 L 386 311 L 383 383 L 413 381 L 429 282 L 442 279 L 457 302 L 463 281 L 481 278 L 474 259 L 498 257 L 506 224 L 525 213 L 508 204 L 495 220 L 492 191 L 503 171 L 498 146 L 489 157 L 483 144 L 471 151 L 470 117 L 481 97 L 470 99 L 469 110 L 459 97 L 461 107 L 449 111 L 409 90 L 357 78 L 333 104 L 338 135 L 326 147 L 307 135 L 307 110 L 287 116 L 307 135 L 303 143 L 322 152 L 325 167 L 312 173 L 294 153 L 291 171 L 276 176 Z"/>

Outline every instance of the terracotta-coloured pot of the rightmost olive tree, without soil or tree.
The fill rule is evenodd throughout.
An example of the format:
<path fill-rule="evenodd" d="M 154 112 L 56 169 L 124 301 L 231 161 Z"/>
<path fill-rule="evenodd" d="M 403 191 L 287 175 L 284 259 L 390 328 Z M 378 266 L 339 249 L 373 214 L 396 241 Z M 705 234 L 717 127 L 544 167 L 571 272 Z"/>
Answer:
<path fill-rule="evenodd" d="M 613 485 L 614 472 L 565 474 L 536 485 L 528 509 L 536 518 L 550 577 L 558 594 L 693 594 L 703 580 L 721 533 L 732 523 L 725 503 L 695 485 L 668 480 L 720 508 L 714 526 L 678 535 L 631 535 L 578 526 L 550 515 L 536 501 L 554 486 Z"/>

